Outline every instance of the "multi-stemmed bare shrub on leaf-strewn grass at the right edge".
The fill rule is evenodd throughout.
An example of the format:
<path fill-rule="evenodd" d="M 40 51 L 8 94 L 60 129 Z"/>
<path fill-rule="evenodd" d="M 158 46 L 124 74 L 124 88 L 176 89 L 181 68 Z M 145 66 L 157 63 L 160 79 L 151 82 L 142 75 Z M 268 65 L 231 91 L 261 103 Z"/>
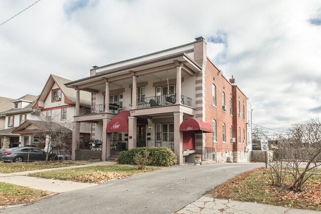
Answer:
<path fill-rule="evenodd" d="M 290 188 L 301 191 L 303 183 L 321 166 L 320 120 L 293 124 L 286 137 L 281 134 L 278 148 L 274 150 L 274 161 L 269 166 L 273 184 L 283 185 L 286 174 L 290 174 L 293 178 Z"/>

